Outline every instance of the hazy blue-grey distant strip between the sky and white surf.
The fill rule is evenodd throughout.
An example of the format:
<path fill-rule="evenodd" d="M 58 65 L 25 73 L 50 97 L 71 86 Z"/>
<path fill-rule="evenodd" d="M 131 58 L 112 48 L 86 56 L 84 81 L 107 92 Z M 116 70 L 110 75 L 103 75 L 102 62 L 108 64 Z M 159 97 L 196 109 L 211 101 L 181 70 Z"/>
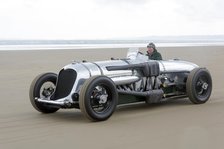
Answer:
<path fill-rule="evenodd" d="M 0 39 L 0 45 L 104 45 L 169 43 L 224 43 L 224 35 L 146 36 L 115 39 Z"/>

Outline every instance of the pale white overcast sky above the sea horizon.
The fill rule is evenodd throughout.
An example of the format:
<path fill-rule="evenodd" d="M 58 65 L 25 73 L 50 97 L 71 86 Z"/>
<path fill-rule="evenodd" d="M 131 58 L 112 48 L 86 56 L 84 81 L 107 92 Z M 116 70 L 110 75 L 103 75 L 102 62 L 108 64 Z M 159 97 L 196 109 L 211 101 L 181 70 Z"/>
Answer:
<path fill-rule="evenodd" d="M 223 0 L 0 0 L 0 39 L 220 34 Z"/>

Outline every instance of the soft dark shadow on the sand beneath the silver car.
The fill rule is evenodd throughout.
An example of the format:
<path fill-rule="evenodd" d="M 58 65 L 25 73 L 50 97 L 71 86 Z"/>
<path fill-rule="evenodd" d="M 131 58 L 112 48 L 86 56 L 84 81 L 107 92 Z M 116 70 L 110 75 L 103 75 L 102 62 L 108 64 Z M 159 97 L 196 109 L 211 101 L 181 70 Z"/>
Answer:
<path fill-rule="evenodd" d="M 167 100 L 161 103 L 156 104 L 146 104 L 145 102 L 139 103 L 131 103 L 131 104 L 123 104 L 118 105 L 116 108 L 116 114 L 125 115 L 126 113 L 133 112 L 141 112 L 141 111 L 153 111 L 158 108 L 163 107 L 175 107 L 175 106 L 189 106 L 192 103 L 188 99 L 175 99 L 175 100 Z M 113 115 L 112 115 L 113 116 Z M 88 123 L 88 119 L 84 117 L 80 110 L 77 109 L 61 109 L 56 113 L 52 114 L 41 114 L 41 117 L 45 117 L 47 119 L 53 121 L 63 121 L 63 122 L 72 122 L 72 123 Z"/>

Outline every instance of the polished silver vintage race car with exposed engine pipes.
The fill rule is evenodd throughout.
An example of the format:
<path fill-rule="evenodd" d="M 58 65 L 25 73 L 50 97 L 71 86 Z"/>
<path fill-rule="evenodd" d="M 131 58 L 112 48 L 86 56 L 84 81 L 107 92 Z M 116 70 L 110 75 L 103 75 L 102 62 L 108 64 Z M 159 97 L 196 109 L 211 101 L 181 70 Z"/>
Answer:
<path fill-rule="evenodd" d="M 119 104 L 158 103 L 176 97 L 202 104 L 211 92 L 212 79 L 206 68 L 178 59 L 149 60 L 131 48 L 124 59 L 74 61 L 58 74 L 40 74 L 31 83 L 29 96 L 39 112 L 77 108 L 88 119 L 103 121 Z"/>

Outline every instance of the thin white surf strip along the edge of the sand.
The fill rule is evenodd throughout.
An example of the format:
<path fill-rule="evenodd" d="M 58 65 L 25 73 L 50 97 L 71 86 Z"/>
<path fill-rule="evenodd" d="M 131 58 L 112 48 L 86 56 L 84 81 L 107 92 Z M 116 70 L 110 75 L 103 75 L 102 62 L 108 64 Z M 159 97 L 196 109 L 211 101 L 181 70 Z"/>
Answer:
<path fill-rule="evenodd" d="M 76 50 L 76 49 L 102 49 L 102 48 L 145 48 L 148 43 L 120 43 L 120 44 L 26 44 L 26 45 L 0 45 L 0 51 L 14 50 Z M 224 46 L 224 42 L 203 43 L 156 43 L 160 47 L 201 47 Z"/>

